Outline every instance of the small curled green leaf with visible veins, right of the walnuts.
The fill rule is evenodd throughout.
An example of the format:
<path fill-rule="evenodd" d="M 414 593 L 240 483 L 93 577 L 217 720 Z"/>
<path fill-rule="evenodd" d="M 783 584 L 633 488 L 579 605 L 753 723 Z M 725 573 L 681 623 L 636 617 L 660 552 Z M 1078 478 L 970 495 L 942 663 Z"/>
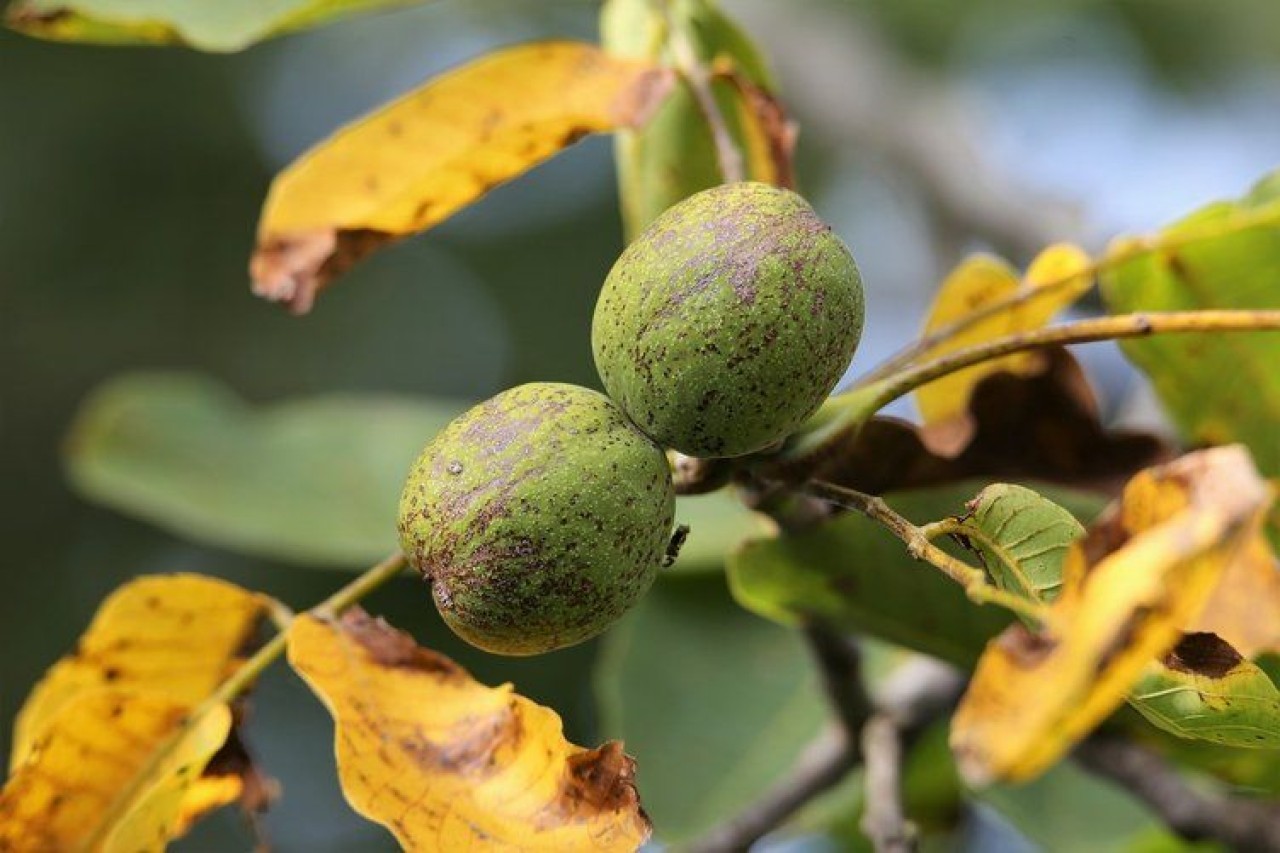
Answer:
<path fill-rule="evenodd" d="M 959 526 L 996 584 L 1032 601 L 1057 597 L 1062 560 L 1084 534 L 1084 526 L 1065 508 L 1009 483 L 979 492 Z"/>

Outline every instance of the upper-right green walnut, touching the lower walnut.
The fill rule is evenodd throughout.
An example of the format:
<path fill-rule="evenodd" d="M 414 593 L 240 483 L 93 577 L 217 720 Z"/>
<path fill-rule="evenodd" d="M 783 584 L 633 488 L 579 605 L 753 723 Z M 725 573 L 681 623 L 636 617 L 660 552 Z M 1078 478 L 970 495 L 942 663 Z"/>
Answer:
<path fill-rule="evenodd" d="M 733 183 L 667 210 L 618 257 L 591 347 L 613 400 L 691 456 L 763 450 L 804 423 L 863 330 L 852 255 L 809 204 Z"/>

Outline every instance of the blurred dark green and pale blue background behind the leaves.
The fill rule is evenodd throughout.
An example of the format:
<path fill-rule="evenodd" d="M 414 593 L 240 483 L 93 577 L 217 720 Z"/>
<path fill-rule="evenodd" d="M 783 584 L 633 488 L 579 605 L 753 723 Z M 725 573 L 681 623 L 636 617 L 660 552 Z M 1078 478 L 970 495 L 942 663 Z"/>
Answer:
<path fill-rule="evenodd" d="M 915 333 L 934 284 L 968 250 L 1018 263 L 1056 238 L 1100 250 L 1239 195 L 1280 160 L 1271 0 L 723 5 L 773 59 L 801 126 L 801 190 L 863 268 L 869 311 L 855 369 Z M 193 544 L 78 498 L 60 446 L 104 380 L 196 370 L 255 402 L 598 384 L 590 316 L 621 248 L 607 138 L 365 263 L 305 319 L 255 300 L 246 275 L 268 182 L 292 158 L 489 47 L 591 38 L 596 13 L 586 0 L 438 0 L 237 55 L 0 32 L 5 731 L 99 601 L 136 574 L 207 573 L 298 607 L 342 581 Z M 1107 410 L 1134 411 L 1140 388 L 1114 351 L 1085 357 Z M 596 739 L 595 646 L 532 661 L 471 652 L 411 580 L 369 606 L 480 680 L 512 680 L 556 707 L 571 739 Z M 257 695 L 250 744 L 285 786 L 266 818 L 275 849 L 394 849 L 343 804 L 320 706 L 284 670 Z M 1009 849 L 1030 844 L 1000 838 Z M 228 811 L 178 849 L 250 845 Z"/>

